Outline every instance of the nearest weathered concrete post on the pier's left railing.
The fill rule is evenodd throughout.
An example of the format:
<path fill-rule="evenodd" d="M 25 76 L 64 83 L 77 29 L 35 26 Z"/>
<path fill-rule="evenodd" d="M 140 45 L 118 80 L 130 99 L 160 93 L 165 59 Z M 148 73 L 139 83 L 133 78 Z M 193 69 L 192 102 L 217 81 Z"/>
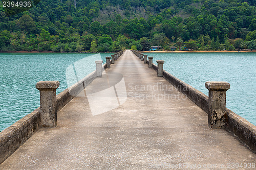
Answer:
<path fill-rule="evenodd" d="M 39 81 L 35 87 L 40 91 L 41 125 L 54 128 L 57 126 L 56 89 L 59 81 Z"/>

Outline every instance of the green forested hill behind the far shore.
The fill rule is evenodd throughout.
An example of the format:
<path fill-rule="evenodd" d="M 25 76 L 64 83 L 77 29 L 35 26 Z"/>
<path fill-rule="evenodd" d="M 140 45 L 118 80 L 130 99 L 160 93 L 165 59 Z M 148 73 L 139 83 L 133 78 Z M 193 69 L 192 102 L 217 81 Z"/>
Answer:
<path fill-rule="evenodd" d="M 41 0 L 0 11 L 0 51 L 256 49 L 255 0 Z"/>

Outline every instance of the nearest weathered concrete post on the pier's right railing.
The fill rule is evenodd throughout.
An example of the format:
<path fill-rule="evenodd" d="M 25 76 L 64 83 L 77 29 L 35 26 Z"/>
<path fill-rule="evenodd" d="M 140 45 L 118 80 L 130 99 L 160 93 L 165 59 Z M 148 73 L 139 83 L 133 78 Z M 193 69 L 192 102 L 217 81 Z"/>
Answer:
<path fill-rule="evenodd" d="M 208 126 L 221 129 L 226 126 L 226 91 L 230 88 L 227 82 L 206 82 L 205 87 L 209 90 L 209 113 Z"/>

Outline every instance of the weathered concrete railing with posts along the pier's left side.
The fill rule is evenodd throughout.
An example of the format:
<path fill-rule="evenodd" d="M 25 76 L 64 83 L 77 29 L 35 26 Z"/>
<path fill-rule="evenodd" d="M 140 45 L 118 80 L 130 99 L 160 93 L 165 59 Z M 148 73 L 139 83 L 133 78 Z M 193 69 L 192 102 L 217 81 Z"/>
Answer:
<path fill-rule="evenodd" d="M 120 57 L 123 51 L 116 54 Z M 97 69 L 95 71 L 57 96 L 56 88 L 58 87 L 58 81 L 42 81 L 37 83 L 36 88 L 40 90 L 40 107 L 0 132 L 0 164 L 40 127 L 55 127 L 57 125 L 57 112 L 74 99 L 96 77 L 101 77 L 102 71 L 107 68 L 107 64 L 102 65 L 102 61 L 96 61 L 96 64 Z"/>

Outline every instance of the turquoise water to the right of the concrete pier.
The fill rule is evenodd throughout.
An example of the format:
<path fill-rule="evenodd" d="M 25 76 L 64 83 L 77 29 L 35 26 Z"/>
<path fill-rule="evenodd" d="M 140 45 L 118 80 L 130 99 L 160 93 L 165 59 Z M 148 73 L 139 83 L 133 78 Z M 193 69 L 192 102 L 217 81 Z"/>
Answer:
<path fill-rule="evenodd" d="M 153 62 L 208 95 L 206 81 L 230 83 L 226 107 L 256 125 L 256 53 L 147 53 Z"/>

